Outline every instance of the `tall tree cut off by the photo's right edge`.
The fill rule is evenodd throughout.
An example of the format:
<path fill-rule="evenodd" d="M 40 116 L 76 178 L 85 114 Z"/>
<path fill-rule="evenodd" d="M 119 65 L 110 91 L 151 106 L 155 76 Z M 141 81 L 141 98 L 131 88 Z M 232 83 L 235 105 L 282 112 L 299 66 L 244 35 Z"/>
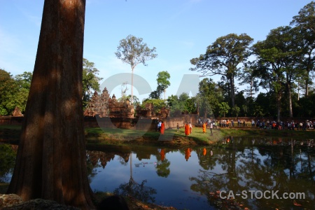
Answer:
<path fill-rule="evenodd" d="M 309 73 L 315 69 L 315 2 L 311 1 L 304 6 L 299 11 L 299 14 L 293 17 L 293 21 L 290 22 L 290 25 L 295 25 L 303 36 L 302 42 L 300 43 L 304 54 L 301 68 L 307 72 L 305 79 L 305 96 L 307 97 L 309 94 L 309 83 L 311 82 Z"/>

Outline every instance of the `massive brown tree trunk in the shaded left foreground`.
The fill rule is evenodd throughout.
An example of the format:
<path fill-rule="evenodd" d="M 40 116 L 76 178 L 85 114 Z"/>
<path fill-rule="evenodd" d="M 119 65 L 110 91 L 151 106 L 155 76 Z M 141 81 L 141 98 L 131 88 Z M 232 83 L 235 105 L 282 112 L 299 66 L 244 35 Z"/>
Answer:
<path fill-rule="evenodd" d="M 85 0 L 45 0 L 31 89 L 8 193 L 93 207 L 82 110 Z"/>

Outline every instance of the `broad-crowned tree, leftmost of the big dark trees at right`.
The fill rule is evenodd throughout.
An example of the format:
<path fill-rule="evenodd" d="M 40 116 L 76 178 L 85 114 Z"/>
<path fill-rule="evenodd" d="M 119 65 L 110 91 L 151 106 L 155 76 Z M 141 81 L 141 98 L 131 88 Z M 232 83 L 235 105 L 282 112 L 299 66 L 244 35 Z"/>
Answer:
<path fill-rule="evenodd" d="M 230 83 L 230 98 L 235 106 L 235 77 L 241 69 L 240 64 L 246 62 L 251 55 L 249 45 L 253 38 L 247 34 L 228 34 L 216 39 L 209 45 L 204 55 L 190 59 L 195 68 L 191 71 L 201 72 L 201 76 L 225 76 Z"/>

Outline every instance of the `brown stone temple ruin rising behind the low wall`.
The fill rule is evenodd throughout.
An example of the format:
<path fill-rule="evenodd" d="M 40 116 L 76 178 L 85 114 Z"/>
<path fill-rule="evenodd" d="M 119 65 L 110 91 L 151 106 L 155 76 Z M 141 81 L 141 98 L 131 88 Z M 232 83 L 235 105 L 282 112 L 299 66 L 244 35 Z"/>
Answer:
<path fill-rule="evenodd" d="M 134 118 L 134 109 L 128 100 L 118 102 L 115 94 L 110 97 L 105 87 L 100 95 L 94 92 L 83 115 L 92 117 L 98 115 L 101 118 Z"/>

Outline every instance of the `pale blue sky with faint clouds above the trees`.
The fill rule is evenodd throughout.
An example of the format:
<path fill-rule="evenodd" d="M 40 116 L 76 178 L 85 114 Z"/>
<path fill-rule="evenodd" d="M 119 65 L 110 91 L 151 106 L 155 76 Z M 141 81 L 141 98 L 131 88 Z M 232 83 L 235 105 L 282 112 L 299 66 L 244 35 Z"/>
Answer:
<path fill-rule="evenodd" d="M 134 70 L 155 90 L 159 71 L 168 71 L 176 94 L 190 59 L 204 54 L 216 38 L 231 33 L 265 39 L 271 29 L 289 25 L 311 1 L 305 0 L 87 0 L 83 57 L 94 62 L 104 80 L 131 73 L 116 58 L 119 41 L 129 34 L 155 47 L 158 57 Z M 43 0 L 0 0 L 0 68 L 15 76 L 33 71 Z M 219 77 L 214 77 L 218 80 Z M 104 81 L 102 80 L 101 83 Z M 130 90 L 129 90 L 130 91 Z M 120 85 L 111 94 L 120 97 Z M 140 99 L 148 97 L 134 89 Z"/>

